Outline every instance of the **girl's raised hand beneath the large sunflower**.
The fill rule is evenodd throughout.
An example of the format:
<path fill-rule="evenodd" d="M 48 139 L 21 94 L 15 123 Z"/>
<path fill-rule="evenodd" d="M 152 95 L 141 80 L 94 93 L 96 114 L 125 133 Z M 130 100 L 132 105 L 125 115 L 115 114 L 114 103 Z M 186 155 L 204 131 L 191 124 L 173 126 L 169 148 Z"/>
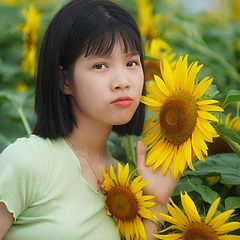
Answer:
<path fill-rule="evenodd" d="M 145 165 L 145 147 L 142 141 L 137 142 L 136 149 L 137 172 L 148 184 L 144 187 L 144 193 L 155 196 L 155 201 L 160 205 L 166 205 L 171 197 L 178 179 L 173 179 L 171 167 L 166 175 L 162 174 L 162 167 L 152 170 L 151 166 Z"/>

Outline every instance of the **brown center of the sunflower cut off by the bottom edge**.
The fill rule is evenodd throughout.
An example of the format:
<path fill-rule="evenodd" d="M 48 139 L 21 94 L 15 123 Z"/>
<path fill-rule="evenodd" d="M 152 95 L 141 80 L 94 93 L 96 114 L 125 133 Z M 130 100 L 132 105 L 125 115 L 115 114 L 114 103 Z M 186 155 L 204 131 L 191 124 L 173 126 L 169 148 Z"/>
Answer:
<path fill-rule="evenodd" d="M 218 237 L 208 225 L 191 223 L 183 234 L 183 240 L 218 240 Z"/>

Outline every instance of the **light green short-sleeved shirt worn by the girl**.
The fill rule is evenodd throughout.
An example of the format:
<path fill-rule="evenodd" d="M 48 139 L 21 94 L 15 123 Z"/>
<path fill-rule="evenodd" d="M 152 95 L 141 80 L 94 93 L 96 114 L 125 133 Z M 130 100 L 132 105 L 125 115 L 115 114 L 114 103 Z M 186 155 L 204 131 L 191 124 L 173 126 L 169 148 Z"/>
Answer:
<path fill-rule="evenodd" d="M 62 138 L 31 135 L 3 151 L 0 202 L 15 219 L 4 240 L 120 240 L 104 197 Z"/>

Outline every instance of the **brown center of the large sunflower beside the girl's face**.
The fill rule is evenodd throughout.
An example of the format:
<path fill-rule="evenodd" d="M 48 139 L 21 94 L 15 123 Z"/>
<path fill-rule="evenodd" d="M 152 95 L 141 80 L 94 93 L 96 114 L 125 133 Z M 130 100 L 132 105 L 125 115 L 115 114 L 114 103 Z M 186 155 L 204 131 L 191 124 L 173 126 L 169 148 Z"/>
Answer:
<path fill-rule="evenodd" d="M 184 143 L 197 123 L 197 103 L 190 93 L 175 92 L 167 98 L 160 111 L 162 133 L 171 143 Z"/>

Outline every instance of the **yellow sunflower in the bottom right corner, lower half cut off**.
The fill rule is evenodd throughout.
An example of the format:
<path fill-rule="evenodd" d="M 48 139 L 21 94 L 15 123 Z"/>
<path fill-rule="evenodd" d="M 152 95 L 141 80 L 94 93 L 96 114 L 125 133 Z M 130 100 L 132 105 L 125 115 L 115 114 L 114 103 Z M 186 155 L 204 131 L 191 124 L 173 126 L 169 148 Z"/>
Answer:
<path fill-rule="evenodd" d="M 206 217 L 201 218 L 193 200 L 187 193 L 181 193 L 184 212 L 170 199 L 167 209 L 170 215 L 159 213 L 160 217 L 172 225 L 156 234 L 162 240 L 239 240 L 240 236 L 228 234 L 240 229 L 239 222 L 226 222 L 234 210 L 228 210 L 215 215 L 220 198 L 210 206 Z M 161 234 L 168 230 L 174 233 Z"/>

